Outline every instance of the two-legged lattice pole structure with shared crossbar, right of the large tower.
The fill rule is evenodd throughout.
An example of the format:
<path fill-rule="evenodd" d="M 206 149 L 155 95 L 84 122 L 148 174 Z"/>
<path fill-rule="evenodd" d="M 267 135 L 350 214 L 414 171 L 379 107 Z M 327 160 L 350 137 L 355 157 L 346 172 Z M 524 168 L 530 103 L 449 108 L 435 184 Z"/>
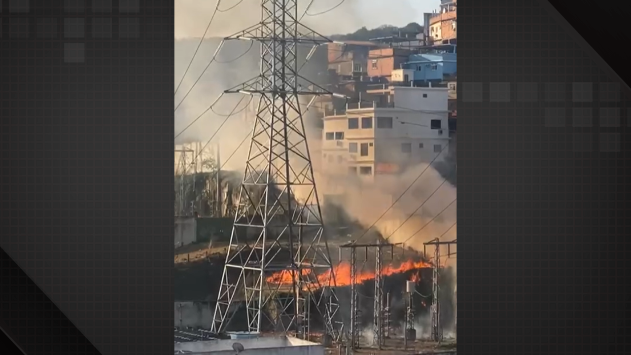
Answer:
<path fill-rule="evenodd" d="M 368 250 L 375 248 L 375 293 L 374 293 L 374 308 L 372 316 L 372 332 L 373 332 L 373 344 L 379 349 L 382 349 L 386 341 L 386 326 L 389 326 L 389 306 L 384 307 L 384 279 L 383 279 L 383 250 L 384 248 L 390 248 L 391 260 L 394 256 L 394 246 L 403 243 L 369 243 L 369 244 L 356 244 L 355 242 L 347 243 L 340 248 L 350 248 L 351 250 L 351 347 L 357 349 L 359 347 L 360 338 L 360 323 L 358 310 L 358 297 L 357 297 L 357 249 L 363 248 L 368 258 Z M 387 301 L 389 304 L 389 301 Z"/>

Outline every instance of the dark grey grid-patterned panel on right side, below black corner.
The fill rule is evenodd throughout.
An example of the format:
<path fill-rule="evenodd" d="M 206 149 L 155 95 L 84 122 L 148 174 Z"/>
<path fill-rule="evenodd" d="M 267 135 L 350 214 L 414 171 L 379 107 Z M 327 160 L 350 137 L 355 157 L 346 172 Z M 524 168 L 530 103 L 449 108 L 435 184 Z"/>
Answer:
<path fill-rule="evenodd" d="M 541 4 L 458 8 L 458 340 L 624 354 L 628 95 Z"/>

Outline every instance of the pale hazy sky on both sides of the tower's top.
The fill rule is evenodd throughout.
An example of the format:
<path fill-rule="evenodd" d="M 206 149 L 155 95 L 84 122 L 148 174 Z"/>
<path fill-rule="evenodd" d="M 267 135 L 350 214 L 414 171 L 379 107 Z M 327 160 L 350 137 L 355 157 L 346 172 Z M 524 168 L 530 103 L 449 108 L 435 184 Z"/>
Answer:
<path fill-rule="evenodd" d="M 208 37 L 225 37 L 250 27 L 260 18 L 260 0 L 221 0 L 219 12 L 213 20 Z M 341 0 L 314 0 L 309 14 L 331 9 Z M 298 0 L 298 13 L 303 13 L 309 0 Z M 341 6 L 318 16 L 302 20 L 323 35 L 355 32 L 358 28 L 380 25 L 404 26 L 422 23 L 423 13 L 439 7 L 439 0 L 346 0 Z M 216 0 L 175 0 L 175 38 L 201 37 L 216 6 Z"/>

